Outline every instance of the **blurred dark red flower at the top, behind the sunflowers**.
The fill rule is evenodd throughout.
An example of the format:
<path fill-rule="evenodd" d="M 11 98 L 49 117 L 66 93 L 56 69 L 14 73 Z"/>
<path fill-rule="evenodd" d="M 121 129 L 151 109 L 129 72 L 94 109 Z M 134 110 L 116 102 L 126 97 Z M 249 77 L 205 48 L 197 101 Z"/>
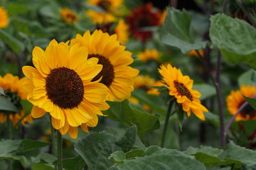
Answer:
<path fill-rule="evenodd" d="M 127 24 L 131 34 L 136 39 L 141 39 L 143 43 L 147 38 L 152 38 L 152 31 L 142 31 L 143 27 L 152 27 L 161 24 L 161 13 L 152 9 L 152 3 L 132 9 L 131 15 L 127 16 Z"/>

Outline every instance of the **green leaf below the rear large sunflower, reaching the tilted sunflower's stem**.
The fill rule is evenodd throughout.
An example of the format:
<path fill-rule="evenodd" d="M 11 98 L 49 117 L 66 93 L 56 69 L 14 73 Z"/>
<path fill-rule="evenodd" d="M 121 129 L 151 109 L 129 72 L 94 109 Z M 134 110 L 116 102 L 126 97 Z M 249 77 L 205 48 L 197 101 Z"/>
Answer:
<path fill-rule="evenodd" d="M 106 111 L 109 118 L 122 122 L 128 126 L 135 124 L 138 128 L 138 134 L 143 135 L 145 132 L 159 128 L 159 119 L 155 115 L 150 115 L 129 104 L 127 100 L 122 102 L 108 102 L 110 108 Z"/>

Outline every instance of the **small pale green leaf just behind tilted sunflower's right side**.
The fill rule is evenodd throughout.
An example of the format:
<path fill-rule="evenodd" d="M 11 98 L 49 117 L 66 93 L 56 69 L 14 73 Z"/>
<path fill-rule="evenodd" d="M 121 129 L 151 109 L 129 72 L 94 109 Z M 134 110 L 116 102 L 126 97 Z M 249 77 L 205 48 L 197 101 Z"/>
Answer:
<path fill-rule="evenodd" d="M 207 85 L 207 84 L 194 84 L 193 89 L 198 90 L 200 94 L 202 95 L 200 97 L 200 100 L 207 99 L 211 96 L 214 96 L 216 94 L 216 90 L 212 85 Z"/>

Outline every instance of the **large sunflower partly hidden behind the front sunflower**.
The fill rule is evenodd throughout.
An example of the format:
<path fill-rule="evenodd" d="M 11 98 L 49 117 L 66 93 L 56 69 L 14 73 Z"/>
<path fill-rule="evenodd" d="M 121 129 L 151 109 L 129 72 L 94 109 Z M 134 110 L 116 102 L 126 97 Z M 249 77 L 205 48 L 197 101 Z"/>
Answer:
<path fill-rule="evenodd" d="M 134 77 L 139 71 L 128 65 L 133 62 L 132 53 L 125 51 L 125 46 L 116 40 L 116 34 L 109 36 L 101 30 L 95 30 L 93 34 L 86 31 L 83 36 L 77 34 L 71 40 L 71 46 L 78 44 L 88 49 L 88 58 L 96 57 L 103 69 L 93 81 L 100 79 L 108 87 L 108 101 L 122 101 L 131 96 L 134 90 Z"/>

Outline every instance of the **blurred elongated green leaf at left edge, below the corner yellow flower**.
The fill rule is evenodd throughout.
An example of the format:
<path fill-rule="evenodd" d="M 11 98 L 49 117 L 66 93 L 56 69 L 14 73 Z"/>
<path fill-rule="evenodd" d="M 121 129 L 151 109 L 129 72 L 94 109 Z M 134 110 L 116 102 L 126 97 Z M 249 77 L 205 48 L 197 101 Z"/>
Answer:
<path fill-rule="evenodd" d="M 10 46 L 10 48 L 12 48 L 13 52 L 15 53 L 20 53 L 25 48 L 25 46 L 19 41 L 19 39 L 8 34 L 8 32 L 3 31 L 3 29 L 0 29 L 0 38 L 3 39 L 4 42 L 8 46 Z"/>

